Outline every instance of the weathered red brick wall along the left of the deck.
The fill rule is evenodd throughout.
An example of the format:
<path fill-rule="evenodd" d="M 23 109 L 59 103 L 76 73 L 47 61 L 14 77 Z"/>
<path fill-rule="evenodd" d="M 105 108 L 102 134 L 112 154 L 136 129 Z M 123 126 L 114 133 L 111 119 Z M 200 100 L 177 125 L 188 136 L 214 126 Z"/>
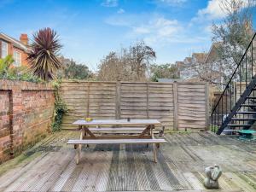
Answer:
<path fill-rule="evenodd" d="M 0 163 L 47 135 L 54 98 L 49 84 L 0 80 Z"/>

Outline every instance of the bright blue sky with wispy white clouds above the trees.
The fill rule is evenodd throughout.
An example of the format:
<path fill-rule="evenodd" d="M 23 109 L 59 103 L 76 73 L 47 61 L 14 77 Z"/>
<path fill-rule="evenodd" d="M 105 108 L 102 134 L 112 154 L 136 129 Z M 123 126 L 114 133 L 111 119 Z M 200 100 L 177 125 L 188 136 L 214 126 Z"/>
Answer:
<path fill-rule="evenodd" d="M 157 64 L 208 51 L 212 22 L 224 18 L 220 0 L 0 0 L 0 32 L 13 38 L 54 29 L 61 54 L 96 71 L 110 51 L 139 40 Z M 253 9 L 255 26 L 256 9 Z M 255 27 L 254 27 L 255 28 Z"/>

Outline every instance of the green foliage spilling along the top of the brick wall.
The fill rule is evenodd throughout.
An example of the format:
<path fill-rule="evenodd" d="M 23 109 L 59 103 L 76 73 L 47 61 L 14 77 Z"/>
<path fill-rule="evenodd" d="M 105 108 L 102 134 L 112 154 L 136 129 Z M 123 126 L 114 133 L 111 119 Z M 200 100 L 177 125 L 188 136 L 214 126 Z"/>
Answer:
<path fill-rule="evenodd" d="M 0 79 L 42 82 L 41 79 L 29 72 L 27 67 L 12 67 L 13 62 L 14 59 L 11 55 L 0 59 Z"/>

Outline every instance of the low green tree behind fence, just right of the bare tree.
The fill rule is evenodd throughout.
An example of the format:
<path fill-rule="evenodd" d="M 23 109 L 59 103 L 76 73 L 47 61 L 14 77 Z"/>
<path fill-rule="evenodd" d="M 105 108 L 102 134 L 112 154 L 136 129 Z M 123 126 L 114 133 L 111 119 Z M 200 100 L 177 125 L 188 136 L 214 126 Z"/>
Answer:
<path fill-rule="evenodd" d="M 178 68 L 172 64 L 151 65 L 150 71 L 151 80 L 155 82 L 157 79 L 179 79 Z"/>

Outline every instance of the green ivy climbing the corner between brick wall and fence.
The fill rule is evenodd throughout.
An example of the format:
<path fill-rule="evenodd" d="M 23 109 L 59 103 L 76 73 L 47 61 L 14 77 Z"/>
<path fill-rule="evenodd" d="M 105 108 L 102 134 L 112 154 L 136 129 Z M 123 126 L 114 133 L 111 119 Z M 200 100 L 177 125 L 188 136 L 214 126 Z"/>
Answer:
<path fill-rule="evenodd" d="M 59 96 L 61 80 L 56 80 L 53 82 L 53 86 L 55 87 L 55 114 L 51 128 L 52 131 L 61 131 L 61 122 L 63 115 L 67 113 L 67 105 L 61 100 L 61 97 Z"/>

